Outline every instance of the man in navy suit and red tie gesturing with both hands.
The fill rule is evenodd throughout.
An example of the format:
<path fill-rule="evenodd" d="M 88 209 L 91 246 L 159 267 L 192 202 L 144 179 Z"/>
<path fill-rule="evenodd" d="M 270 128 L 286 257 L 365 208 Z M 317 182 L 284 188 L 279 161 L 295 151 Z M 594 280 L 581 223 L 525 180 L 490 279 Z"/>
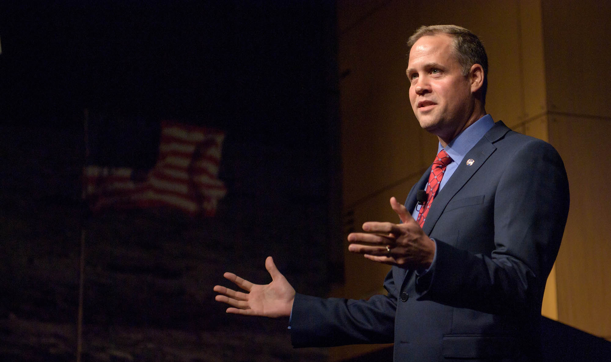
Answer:
<path fill-rule="evenodd" d="M 368 300 L 296 294 L 273 278 L 247 291 L 215 286 L 227 313 L 290 316 L 295 347 L 394 342 L 395 361 L 538 361 L 541 300 L 569 207 L 568 181 L 546 142 L 486 114 L 488 59 L 458 26 L 420 27 L 409 39 L 409 100 L 439 138 L 434 163 L 401 223 L 367 222 L 349 251 L 392 265 L 387 295 Z"/>

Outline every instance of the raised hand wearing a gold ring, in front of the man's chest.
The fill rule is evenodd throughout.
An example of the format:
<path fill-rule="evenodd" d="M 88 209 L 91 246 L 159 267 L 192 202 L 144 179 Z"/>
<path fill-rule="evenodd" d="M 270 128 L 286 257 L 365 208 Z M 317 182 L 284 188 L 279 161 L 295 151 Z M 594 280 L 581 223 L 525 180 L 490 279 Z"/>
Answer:
<path fill-rule="evenodd" d="M 390 207 L 403 223 L 366 222 L 363 230 L 367 233 L 348 235 L 351 243 L 348 250 L 384 264 L 427 269 L 433 262 L 435 242 L 426 236 L 412 215 L 394 197 L 390 198 Z"/>

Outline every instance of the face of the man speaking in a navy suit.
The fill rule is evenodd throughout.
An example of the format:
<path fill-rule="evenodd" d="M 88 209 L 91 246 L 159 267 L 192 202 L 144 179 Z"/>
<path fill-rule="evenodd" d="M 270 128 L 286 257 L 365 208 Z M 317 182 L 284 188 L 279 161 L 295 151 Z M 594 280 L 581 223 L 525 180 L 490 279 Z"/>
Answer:
<path fill-rule="evenodd" d="M 409 101 L 420 126 L 446 142 L 461 132 L 474 108 L 450 35 L 426 35 L 411 48 L 406 74 Z"/>

